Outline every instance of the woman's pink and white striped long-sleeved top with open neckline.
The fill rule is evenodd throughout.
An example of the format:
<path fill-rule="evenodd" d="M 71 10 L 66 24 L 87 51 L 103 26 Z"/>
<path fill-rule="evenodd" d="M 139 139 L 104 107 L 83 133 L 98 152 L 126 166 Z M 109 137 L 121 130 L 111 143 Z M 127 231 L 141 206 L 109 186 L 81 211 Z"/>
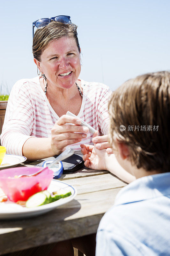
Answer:
<path fill-rule="evenodd" d="M 81 79 L 83 100 L 78 117 L 98 130 L 100 135 L 108 130 L 108 100 L 111 95 L 105 84 L 85 82 Z M 1 145 L 8 154 L 22 155 L 26 140 L 33 137 L 51 137 L 51 129 L 59 116 L 51 107 L 43 92 L 39 76 L 33 79 L 21 79 L 11 90 L 2 129 Z M 92 144 L 92 133 L 76 144 L 69 145 L 80 150 L 80 144 Z M 38 145 L 37 145 L 38 146 Z"/>

